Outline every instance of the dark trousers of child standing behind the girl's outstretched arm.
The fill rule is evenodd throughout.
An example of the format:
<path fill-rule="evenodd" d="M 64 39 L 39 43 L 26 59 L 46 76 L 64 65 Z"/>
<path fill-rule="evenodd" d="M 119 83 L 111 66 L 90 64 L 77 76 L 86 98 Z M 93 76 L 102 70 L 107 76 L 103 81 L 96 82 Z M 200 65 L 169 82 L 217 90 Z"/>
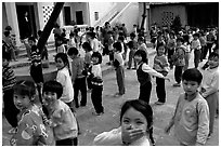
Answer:
<path fill-rule="evenodd" d="M 158 97 L 158 102 L 166 102 L 166 90 L 165 90 L 165 79 L 156 78 L 156 93 Z"/>

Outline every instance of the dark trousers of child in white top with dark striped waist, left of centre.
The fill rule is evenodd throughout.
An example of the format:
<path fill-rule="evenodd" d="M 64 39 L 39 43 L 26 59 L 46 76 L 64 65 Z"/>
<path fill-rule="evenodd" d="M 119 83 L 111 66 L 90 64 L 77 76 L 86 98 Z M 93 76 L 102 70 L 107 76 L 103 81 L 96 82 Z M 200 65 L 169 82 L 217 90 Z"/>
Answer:
<path fill-rule="evenodd" d="M 96 113 L 104 112 L 104 107 L 102 106 L 102 85 L 93 85 L 91 91 L 91 100 Z"/>

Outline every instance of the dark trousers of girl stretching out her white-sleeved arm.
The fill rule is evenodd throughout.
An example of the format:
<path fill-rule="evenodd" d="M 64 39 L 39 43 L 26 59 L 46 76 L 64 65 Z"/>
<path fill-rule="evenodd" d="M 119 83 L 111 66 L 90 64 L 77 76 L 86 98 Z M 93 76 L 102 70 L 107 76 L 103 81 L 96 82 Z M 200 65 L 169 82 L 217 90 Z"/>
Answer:
<path fill-rule="evenodd" d="M 151 81 L 148 81 L 147 83 L 145 83 L 143 85 L 140 85 L 139 99 L 142 99 L 148 104 L 150 97 L 151 97 L 151 92 L 152 92 L 152 82 Z"/>

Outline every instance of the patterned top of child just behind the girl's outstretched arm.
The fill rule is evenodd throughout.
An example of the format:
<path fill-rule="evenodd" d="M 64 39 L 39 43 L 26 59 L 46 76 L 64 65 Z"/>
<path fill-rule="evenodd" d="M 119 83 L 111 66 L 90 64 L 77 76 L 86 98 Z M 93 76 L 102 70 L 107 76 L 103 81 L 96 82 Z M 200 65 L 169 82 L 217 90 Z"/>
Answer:
<path fill-rule="evenodd" d="M 161 64 L 159 64 L 157 60 L 159 60 Z M 166 55 L 161 56 L 156 55 L 154 57 L 154 69 L 158 72 L 169 71 L 169 63 Z"/>

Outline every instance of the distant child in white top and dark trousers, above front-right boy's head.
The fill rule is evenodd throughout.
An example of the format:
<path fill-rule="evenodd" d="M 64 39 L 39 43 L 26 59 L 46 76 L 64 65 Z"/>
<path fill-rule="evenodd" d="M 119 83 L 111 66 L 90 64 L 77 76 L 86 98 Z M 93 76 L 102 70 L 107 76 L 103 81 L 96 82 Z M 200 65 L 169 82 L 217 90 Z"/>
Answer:
<path fill-rule="evenodd" d="M 194 50 L 194 65 L 195 68 L 198 67 L 198 64 L 200 62 L 200 54 L 202 54 L 202 45 L 200 45 L 200 41 L 199 41 L 199 33 L 196 32 L 193 35 L 193 41 L 191 42 L 191 51 Z"/>

